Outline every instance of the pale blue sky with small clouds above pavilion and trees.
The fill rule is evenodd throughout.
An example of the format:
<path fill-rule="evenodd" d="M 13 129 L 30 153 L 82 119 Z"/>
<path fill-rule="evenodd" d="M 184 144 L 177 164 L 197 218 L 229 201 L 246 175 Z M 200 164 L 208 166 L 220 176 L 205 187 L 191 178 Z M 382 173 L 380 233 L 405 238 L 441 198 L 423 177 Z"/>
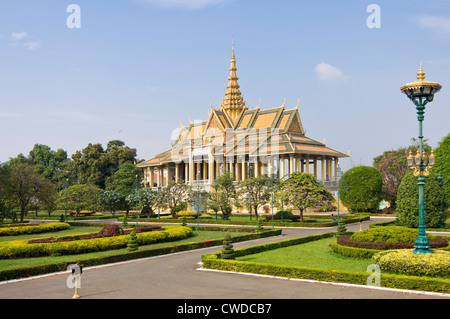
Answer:
<path fill-rule="evenodd" d="M 81 28 L 70 29 L 70 4 Z M 368 28 L 370 4 L 381 28 Z M 418 135 L 401 85 L 443 85 L 425 113 L 436 147 L 450 132 L 450 2 L 40 0 L 0 4 L 0 162 L 36 143 L 69 155 L 121 139 L 141 159 L 170 147 L 189 119 L 224 97 L 231 43 L 250 107 L 286 98 L 307 136 L 354 165 Z"/>

